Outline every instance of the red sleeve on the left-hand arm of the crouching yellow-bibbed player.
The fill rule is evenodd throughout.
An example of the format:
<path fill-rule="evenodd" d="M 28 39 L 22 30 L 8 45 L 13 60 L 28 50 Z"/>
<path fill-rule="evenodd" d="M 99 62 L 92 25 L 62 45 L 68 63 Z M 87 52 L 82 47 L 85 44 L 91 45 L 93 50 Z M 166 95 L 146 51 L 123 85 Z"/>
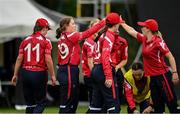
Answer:
<path fill-rule="evenodd" d="M 123 87 L 124 87 L 124 94 L 128 103 L 128 106 L 130 107 L 131 110 L 135 110 L 136 109 L 136 104 L 133 98 L 133 90 L 131 85 L 127 82 L 127 80 L 124 80 L 123 83 Z"/>

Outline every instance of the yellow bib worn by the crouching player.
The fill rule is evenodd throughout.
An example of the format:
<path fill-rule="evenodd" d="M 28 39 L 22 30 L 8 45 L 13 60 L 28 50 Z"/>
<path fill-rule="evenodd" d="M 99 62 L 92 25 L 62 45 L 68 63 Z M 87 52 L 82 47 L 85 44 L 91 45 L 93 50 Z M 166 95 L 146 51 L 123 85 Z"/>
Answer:
<path fill-rule="evenodd" d="M 125 79 L 127 82 L 131 85 L 132 90 L 133 90 L 133 98 L 135 102 L 140 103 L 148 98 L 150 98 L 150 77 L 147 77 L 147 83 L 144 87 L 144 90 L 142 93 L 138 93 L 138 88 L 136 87 L 133 75 L 132 75 L 132 69 L 130 69 L 126 74 L 125 74 Z"/>

